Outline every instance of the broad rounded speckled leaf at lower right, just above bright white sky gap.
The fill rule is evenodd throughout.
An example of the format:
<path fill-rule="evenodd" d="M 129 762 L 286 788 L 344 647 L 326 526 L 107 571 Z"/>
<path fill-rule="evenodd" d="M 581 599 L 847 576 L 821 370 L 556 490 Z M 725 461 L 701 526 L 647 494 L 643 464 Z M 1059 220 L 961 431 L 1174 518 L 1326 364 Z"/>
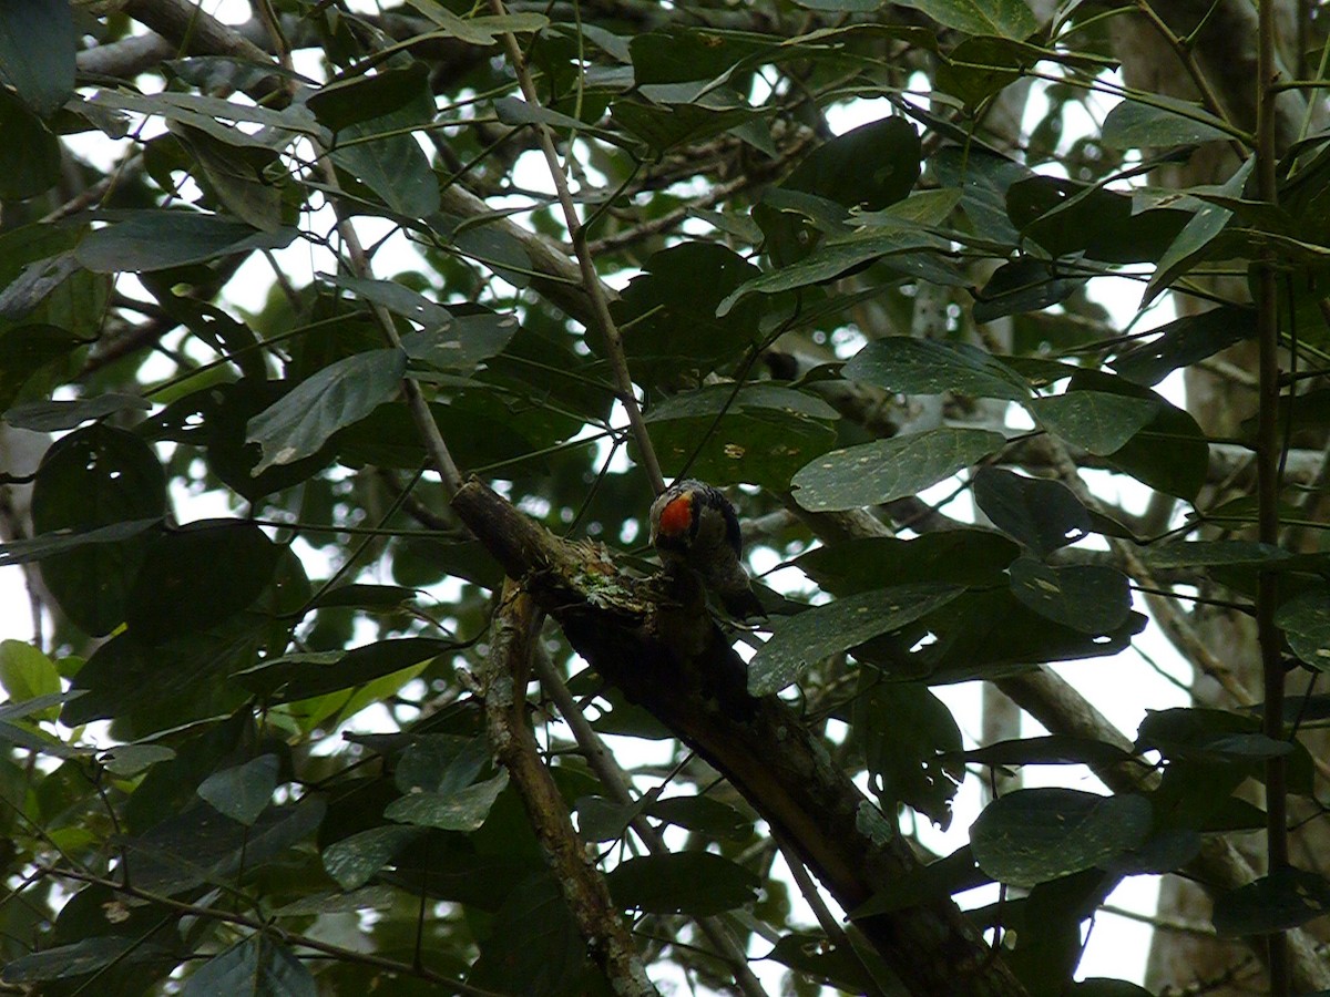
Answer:
<path fill-rule="evenodd" d="M 970 830 L 979 868 L 1013 887 L 1091 869 L 1138 847 L 1153 823 L 1144 796 L 1017 790 L 988 804 Z"/>

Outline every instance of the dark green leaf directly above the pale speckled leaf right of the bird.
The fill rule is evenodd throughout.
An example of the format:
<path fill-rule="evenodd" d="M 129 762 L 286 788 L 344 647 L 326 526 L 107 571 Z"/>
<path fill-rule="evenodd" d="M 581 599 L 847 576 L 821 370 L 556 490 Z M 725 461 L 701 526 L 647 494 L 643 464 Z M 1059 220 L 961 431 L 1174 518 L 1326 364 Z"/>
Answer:
<path fill-rule="evenodd" d="M 886 336 L 855 354 L 841 375 L 876 384 L 898 395 L 940 395 L 954 391 L 972 397 L 1012 401 L 1029 397 L 1029 384 L 1024 378 L 970 343 Z"/>

